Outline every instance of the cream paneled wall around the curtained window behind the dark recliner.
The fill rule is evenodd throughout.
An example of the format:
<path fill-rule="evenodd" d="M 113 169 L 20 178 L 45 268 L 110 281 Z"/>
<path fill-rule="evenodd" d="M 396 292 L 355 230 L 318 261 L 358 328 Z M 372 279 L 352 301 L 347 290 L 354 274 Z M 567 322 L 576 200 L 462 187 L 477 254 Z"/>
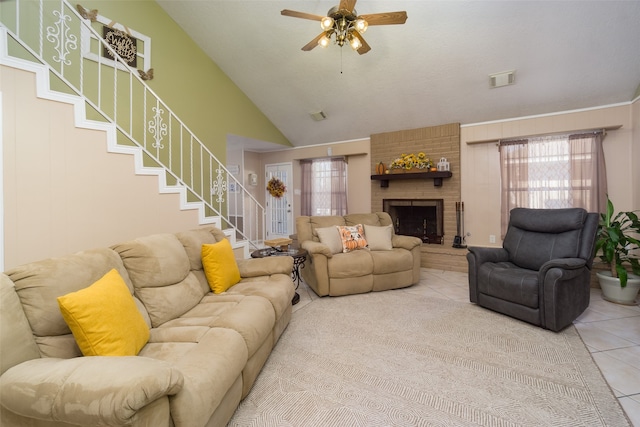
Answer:
<path fill-rule="evenodd" d="M 638 105 L 638 103 L 636 103 Z M 640 108 L 636 107 L 636 110 Z M 639 121 L 636 112 L 636 122 Z M 638 209 L 640 132 L 633 125 L 632 106 L 620 105 L 575 112 L 463 125 L 461 129 L 462 200 L 465 202 L 465 230 L 470 246 L 501 246 L 500 241 L 500 156 L 496 142 L 468 144 L 518 136 L 595 129 L 622 125 L 608 132 L 604 140 L 609 196 L 617 210 Z M 635 135 L 635 142 L 634 142 Z M 634 154 L 635 153 L 635 154 Z M 634 162 L 635 156 L 635 162 Z M 636 179 L 634 182 L 640 182 Z M 634 193 L 636 194 L 634 201 Z M 489 236 L 496 236 L 496 243 Z"/>

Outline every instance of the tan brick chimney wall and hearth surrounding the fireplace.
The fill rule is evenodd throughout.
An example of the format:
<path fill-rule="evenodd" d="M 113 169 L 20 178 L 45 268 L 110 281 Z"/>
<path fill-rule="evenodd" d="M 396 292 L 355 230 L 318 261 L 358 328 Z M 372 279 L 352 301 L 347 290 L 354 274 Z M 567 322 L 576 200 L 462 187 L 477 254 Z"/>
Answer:
<path fill-rule="evenodd" d="M 424 152 L 434 163 L 438 163 L 441 157 L 446 157 L 450 163 L 451 178 L 442 179 L 441 186 L 435 186 L 434 180 L 428 178 L 392 179 L 389 180 L 387 187 L 381 186 L 382 181 L 372 180 L 371 210 L 372 212 L 384 211 L 385 200 L 440 200 L 442 234 L 439 235 L 436 232 L 433 235 L 434 237 L 438 236 L 441 244 L 422 245 L 421 265 L 466 272 L 465 255 L 467 251 L 453 248 L 453 239 L 457 229 L 456 202 L 461 201 L 460 124 L 451 123 L 371 135 L 371 174 L 376 173 L 375 166 L 378 162 L 384 162 L 388 165 L 400 154 L 417 154 L 419 152 Z M 414 229 L 420 228 L 420 224 L 412 227 Z M 416 231 L 416 233 L 419 234 L 420 231 Z M 415 235 L 414 233 L 410 234 Z M 423 236 L 418 237 L 422 238 Z"/>

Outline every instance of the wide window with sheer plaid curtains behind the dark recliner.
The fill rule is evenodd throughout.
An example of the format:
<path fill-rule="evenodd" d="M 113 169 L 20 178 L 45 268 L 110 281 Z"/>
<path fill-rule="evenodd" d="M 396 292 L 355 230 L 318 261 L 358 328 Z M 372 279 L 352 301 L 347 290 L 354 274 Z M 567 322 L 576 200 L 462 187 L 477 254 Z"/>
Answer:
<path fill-rule="evenodd" d="M 500 141 L 502 235 L 515 207 L 604 212 L 603 132 Z"/>

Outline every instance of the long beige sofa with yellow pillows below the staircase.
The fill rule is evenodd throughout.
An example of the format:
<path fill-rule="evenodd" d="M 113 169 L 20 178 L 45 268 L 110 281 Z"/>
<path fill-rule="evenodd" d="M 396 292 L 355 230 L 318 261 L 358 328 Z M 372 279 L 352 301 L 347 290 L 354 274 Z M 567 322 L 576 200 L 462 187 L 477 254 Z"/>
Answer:
<path fill-rule="evenodd" d="M 34 262 L 1 276 L 2 426 L 223 426 L 291 318 L 290 257 L 239 260 L 208 286 L 214 227 L 151 235 Z M 56 298 L 116 269 L 150 328 L 137 356 L 82 354 Z M 125 295 L 126 296 L 126 295 Z"/>

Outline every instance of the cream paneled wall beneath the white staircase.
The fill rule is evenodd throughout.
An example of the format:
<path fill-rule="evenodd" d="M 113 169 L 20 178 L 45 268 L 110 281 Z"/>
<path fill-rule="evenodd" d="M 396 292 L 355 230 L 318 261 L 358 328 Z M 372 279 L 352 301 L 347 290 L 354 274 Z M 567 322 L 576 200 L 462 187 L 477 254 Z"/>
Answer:
<path fill-rule="evenodd" d="M 105 132 L 76 128 L 72 106 L 35 88 L 34 74 L 0 66 L 4 269 L 199 226 L 132 156 L 107 153 Z"/>

